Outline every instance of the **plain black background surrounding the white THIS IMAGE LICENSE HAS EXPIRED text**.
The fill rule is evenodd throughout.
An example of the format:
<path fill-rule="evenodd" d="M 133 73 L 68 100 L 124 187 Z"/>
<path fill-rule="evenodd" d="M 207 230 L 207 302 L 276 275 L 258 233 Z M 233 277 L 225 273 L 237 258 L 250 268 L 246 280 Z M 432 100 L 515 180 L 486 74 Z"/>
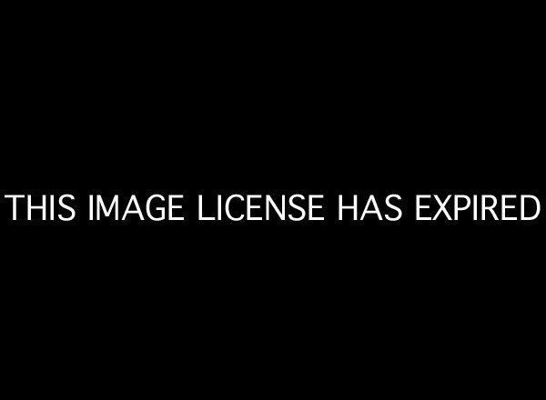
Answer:
<path fill-rule="evenodd" d="M 543 216 L 419 224 L 412 198 L 543 201 L 539 26 L 225 11 L 27 10 L 3 50 L 2 194 L 324 193 L 329 221 L 4 219 L 10 374 L 153 392 L 521 390 L 541 354 Z M 389 193 L 408 204 L 399 224 L 335 222 L 336 195 Z"/>

